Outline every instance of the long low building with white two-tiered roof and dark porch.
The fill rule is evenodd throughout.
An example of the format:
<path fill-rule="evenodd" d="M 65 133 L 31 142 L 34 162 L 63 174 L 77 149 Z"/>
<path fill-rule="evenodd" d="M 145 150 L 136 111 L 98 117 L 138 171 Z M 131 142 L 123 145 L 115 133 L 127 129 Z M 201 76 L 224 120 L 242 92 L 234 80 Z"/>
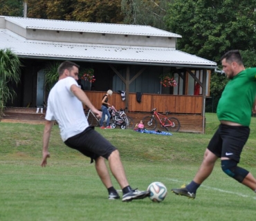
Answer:
<path fill-rule="evenodd" d="M 42 104 L 45 91 L 39 84 L 44 68 L 48 62 L 64 60 L 93 68 L 93 87 L 98 91 L 194 95 L 198 82 L 205 97 L 210 93 L 210 69 L 217 64 L 176 50 L 179 38 L 151 26 L 0 16 L 0 49 L 10 48 L 25 66 L 16 106 Z M 170 72 L 178 86 L 163 88 L 159 76 Z M 129 107 L 129 97 L 125 106 Z"/>

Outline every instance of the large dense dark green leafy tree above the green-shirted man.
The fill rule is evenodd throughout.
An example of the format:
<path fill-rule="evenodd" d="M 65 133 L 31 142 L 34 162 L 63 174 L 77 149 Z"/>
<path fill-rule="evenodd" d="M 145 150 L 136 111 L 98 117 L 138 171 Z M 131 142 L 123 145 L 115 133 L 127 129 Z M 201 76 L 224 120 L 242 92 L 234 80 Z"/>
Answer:
<path fill-rule="evenodd" d="M 183 36 L 180 50 L 219 62 L 228 50 L 254 49 L 255 8 L 255 0 L 174 0 L 165 21 Z"/>

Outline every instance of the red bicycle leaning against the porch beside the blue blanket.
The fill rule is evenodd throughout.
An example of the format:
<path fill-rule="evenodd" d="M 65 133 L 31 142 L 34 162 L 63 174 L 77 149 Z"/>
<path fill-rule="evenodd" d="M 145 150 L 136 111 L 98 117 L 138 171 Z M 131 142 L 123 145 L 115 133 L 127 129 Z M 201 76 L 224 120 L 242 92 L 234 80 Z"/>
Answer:
<path fill-rule="evenodd" d="M 153 112 L 153 115 L 143 118 L 144 128 L 146 130 L 154 131 L 157 125 L 157 122 L 156 122 L 156 118 L 157 118 L 161 124 L 161 127 L 165 128 L 166 131 L 175 131 L 175 132 L 179 131 L 179 128 L 181 127 L 179 119 L 177 119 L 176 117 L 167 118 L 166 116 L 168 115 L 169 112 L 166 112 L 166 115 L 162 115 L 161 113 L 156 112 L 156 108 L 154 108 L 152 112 Z"/>

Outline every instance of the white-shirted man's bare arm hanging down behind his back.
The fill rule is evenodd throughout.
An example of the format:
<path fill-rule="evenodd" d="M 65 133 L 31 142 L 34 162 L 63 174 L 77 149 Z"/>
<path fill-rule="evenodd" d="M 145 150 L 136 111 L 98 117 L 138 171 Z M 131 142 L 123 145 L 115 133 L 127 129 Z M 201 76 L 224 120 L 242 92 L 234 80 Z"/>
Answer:
<path fill-rule="evenodd" d="M 51 129 L 53 128 L 53 121 L 46 120 L 46 124 L 44 126 L 44 136 L 43 136 L 43 159 L 41 162 L 41 166 L 46 166 L 47 158 L 50 157 L 50 153 L 48 152 L 49 140 L 51 135 Z"/>

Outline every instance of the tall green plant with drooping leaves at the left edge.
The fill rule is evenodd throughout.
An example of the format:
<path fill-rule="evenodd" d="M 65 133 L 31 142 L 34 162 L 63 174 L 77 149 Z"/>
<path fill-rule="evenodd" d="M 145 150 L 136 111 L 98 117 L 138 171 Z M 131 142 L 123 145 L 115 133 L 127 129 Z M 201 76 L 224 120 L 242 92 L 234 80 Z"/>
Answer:
<path fill-rule="evenodd" d="M 0 119 L 6 103 L 12 101 L 16 95 L 11 85 L 19 83 L 20 67 L 21 61 L 12 50 L 8 48 L 0 50 Z"/>

